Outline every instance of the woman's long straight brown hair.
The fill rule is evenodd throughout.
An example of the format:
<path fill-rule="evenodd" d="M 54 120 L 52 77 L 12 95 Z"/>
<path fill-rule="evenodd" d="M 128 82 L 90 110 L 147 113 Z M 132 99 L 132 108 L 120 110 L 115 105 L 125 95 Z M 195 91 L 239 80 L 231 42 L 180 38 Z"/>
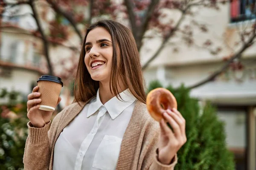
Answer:
<path fill-rule="evenodd" d="M 110 78 L 111 93 L 117 96 L 119 79 L 129 88 L 131 93 L 140 101 L 145 103 L 145 82 L 140 63 L 139 51 L 131 31 L 120 23 L 112 20 L 102 20 L 93 23 L 86 30 L 76 72 L 74 85 L 74 102 L 86 102 L 95 96 L 99 88 L 99 82 L 93 80 L 84 63 L 85 41 L 88 33 L 94 28 L 105 28 L 111 34 L 113 41 L 113 62 Z"/>

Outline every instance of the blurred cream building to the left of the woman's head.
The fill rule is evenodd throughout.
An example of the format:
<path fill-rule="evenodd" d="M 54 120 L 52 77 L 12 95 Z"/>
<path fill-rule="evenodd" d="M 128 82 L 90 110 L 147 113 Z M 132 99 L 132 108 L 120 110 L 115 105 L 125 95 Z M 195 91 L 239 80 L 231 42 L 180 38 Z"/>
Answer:
<path fill-rule="evenodd" d="M 46 6 L 46 2 L 38 1 L 41 27 L 45 34 L 50 34 L 49 22 L 55 19 L 55 14 Z M 44 44 L 37 32 L 38 26 L 32 16 L 29 5 L 23 4 L 8 8 L 0 18 L 0 89 L 12 89 L 23 94 L 23 99 L 32 92 L 37 85 L 37 79 L 48 72 L 47 60 L 44 53 Z M 67 21 L 64 21 L 67 23 Z M 75 34 L 75 33 L 74 33 Z M 70 41 L 59 43 L 49 40 L 49 57 L 55 75 L 70 76 L 76 63 L 79 52 L 73 47 L 79 44 L 79 39 L 72 33 Z M 71 102 L 70 87 L 67 79 L 64 80 L 61 91 L 61 106 Z M 0 102 L 4 102 L 4 99 Z"/>

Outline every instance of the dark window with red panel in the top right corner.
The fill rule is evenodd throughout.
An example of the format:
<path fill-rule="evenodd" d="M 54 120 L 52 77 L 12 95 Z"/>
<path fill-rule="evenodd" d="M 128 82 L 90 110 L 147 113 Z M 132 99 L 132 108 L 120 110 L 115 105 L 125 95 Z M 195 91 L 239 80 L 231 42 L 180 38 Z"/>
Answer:
<path fill-rule="evenodd" d="M 230 2 L 230 16 L 231 22 L 239 22 L 244 20 L 252 20 L 256 18 L 255 15 L 255 1 L 256 0 L 231 0 Z"/>

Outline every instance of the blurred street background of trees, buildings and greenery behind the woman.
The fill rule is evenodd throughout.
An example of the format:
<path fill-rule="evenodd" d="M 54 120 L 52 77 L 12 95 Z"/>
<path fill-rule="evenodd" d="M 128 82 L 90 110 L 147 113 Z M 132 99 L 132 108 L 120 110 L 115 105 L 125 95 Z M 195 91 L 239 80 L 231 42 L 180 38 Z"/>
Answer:
<path fill-rule="evenodd" d="M 64 82 L 54 115 L 70 105 L 84 33 L 102 19 L 131 29 L 148 90 L 186 112 L 175 169 L 256 170 L 255 0 L 0 0 L 0 170 L 23 169 L 41 75 Z"/>

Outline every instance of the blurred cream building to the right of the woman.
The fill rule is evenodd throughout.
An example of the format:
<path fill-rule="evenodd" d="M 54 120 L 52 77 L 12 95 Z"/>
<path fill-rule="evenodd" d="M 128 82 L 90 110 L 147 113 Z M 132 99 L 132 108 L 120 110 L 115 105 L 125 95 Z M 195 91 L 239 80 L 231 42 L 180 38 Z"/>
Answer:
<path fill-rule="evenodd" d="M 255 15 L 247 11 L 247 1 L 233 1 L 222 5 L 220 10 L 200 8 L 193 20 L 207 26 L 204 33 L 193 26 L 191 19 L 183 22 L 180 28 L 192 27 L 194 45 L 188 46 L 181 38 L 172 38 L 160 55 L 151 62 L 144 71 L 146 82 L 158 79 L 164 85 L 178 87 L 181 83 L 189 87 L 206 79 L 210 74 L 221 69 L 224 58 L 241 48 L 236 45 L 240 31 L 251 28 Z M 247 4 L 248 5 L 248 4 Z M 239 10 L 241 8 L 241 10 Z M 176 19 L 180 13 L 166 14 Z M 150 32 L 148 33 L 150 34 Z M 203 45 L 209 39 L 213 47 L 221 47 L 217 55 L 213 55 Z M 241 40 L 240 40 L 241 42 Z M 142 62 L 145 63 L 154 54 L 161 40 L 146 40 L 141 51 Z M 218 108 L 218 116 L 226 124 L 227 144 L 235 153 L 237 170 L 256 169 L 256 45 L 248 48 L 241 59 L 236 60 L 236 67 L 230 67 L 220 76 L 198 88 L 193 88 L 191 95 L 202 103 L 209 100 Z"/>

